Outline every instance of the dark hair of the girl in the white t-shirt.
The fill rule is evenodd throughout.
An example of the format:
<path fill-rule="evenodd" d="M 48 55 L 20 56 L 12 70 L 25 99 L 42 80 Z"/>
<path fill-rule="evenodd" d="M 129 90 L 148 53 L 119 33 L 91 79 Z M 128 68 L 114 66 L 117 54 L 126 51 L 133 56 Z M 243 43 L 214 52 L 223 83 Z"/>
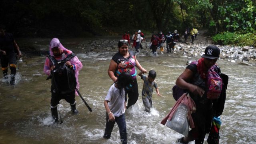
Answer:
<path fill-rule="evenodd" d="M 122 94 L 122 89 L 126 90 L 126 88 L 130 87 L 132 84 L 132 76 L 129 72 L 122 72 L 118 77 L 117 77 L 117 88 L 120 90 L 120 94 Z"/>

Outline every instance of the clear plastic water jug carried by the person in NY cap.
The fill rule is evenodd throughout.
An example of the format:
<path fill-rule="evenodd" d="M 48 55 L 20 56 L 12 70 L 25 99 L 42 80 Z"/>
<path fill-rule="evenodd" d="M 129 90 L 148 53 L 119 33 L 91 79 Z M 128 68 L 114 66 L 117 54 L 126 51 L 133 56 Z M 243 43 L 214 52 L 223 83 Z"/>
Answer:
<path fill-rule="evenodd" d="M 188 115 L 188 107 L 186 104 L 181 103 L 174 113 L 170 125 L 174 129 L 180 129 L 183 127 L 186 117 Z"/>

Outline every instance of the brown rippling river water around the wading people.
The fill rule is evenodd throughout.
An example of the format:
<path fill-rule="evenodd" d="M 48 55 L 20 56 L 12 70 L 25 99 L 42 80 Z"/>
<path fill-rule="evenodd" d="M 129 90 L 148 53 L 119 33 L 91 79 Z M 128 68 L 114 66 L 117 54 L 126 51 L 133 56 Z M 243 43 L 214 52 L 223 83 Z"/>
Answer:
<path fill-rule="evenodd" d="M 0 79 L 1 144 L 121 143 L 117 124 L 110 139 L 102 137 L 106 123 L 104 98 L 113 83 L 107 70 L 115 52 L 80 53 L 76 44 L 83 40 L 64 39 L 61 42 L 75 52 L 83 64 L 79 75 L 80 93 L 92 112 L 79 96 L 76 96 L 77 115 L 73 115 L 69 104 L 61 100 L 58 107 L 63 123 L 52 124 L 51 82 L 46 80 L 43 72 L 45 56 L 32 56 L 18 63 L 16 86 L 9 86 L 4 79 Z M 50 39 L 27 41 L 36 42 L 34 45 L 38 50 L 48 50 Z M 25 40 L 20 40 L 22 42 Z M 186 68 L 188 60 L 198 58 L 174 54 L 153 57 L 140 52 L 137 59 L 146 70 L 156 70 L 156 81 L 162 97 L 157 96 L 154 90 L 152 112 L 144 112 L 141 98 L 143 80 L 137 77 L 139 99 L 126 110 L 128 144 L 175 144 L 182 135 L 163 126 L 160 121 L 175 104 L 171 88 L 176 78 Z M 218 60 L 217 63 L 222 72 L 229 76 L 226 104 L 221 116 L 220 144 L 256 144 L 256 68 L 227 60 Z"/>

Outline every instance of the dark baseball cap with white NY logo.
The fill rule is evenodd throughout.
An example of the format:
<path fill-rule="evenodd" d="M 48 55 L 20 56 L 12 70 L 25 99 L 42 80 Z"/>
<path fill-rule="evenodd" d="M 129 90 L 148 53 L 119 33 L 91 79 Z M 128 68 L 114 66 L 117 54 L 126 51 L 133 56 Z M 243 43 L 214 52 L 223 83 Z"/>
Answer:
<path fill-rule="evenodd" d="M 215 59 L 220 57 L 220 49 L 217 46 L 207 46 L 204 50 L 204 55 L 202 58 Z"/>

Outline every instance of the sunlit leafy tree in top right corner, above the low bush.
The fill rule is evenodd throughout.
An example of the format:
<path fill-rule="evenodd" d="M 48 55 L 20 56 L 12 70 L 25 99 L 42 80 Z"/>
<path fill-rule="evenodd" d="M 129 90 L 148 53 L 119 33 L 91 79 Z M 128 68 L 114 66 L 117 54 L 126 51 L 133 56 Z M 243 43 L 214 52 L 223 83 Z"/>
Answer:
<path fill-rule="evenodd" d="M 215 12 L 211 13 L 210 26 L 216 27 L 219 32 L 253 32 L 256 29 L 256 6 L 253 0 L 214 0 L 213 3 Z"/>

